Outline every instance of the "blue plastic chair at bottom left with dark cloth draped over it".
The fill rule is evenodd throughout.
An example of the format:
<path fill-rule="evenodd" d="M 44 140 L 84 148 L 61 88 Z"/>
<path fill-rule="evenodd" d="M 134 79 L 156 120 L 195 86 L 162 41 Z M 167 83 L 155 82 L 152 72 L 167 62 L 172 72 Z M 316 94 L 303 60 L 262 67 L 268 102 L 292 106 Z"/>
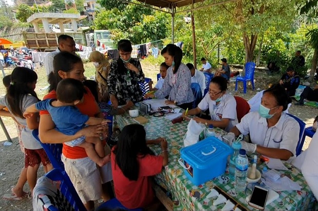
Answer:
<path fill-rule="evenodd" d="M 61 184 L 59 184 L 59 192 L 60 194 L 52 194 L 47 195 L 49 199 L 51 198 L 51 203 L 48 207 L 48 210 L 50 211 L 64 211 L 64 210 L 72 210 L 71 207 L 75 211 L 86 211 L 81 198 L 79 198 L 70 178 L 67 176 L 65 171 L 62 171 L 61 169 L 53 169 L 50 172 L 48 172 L 45 177 L 48 177 L 49 179 L 53 181 L 60 181 Z M 45 187 L 44 187 L 45 188 Z M 37 196 L 34 196 L 37 197 Z M 53 199 L 53 200 L 52 200 Z"/>

